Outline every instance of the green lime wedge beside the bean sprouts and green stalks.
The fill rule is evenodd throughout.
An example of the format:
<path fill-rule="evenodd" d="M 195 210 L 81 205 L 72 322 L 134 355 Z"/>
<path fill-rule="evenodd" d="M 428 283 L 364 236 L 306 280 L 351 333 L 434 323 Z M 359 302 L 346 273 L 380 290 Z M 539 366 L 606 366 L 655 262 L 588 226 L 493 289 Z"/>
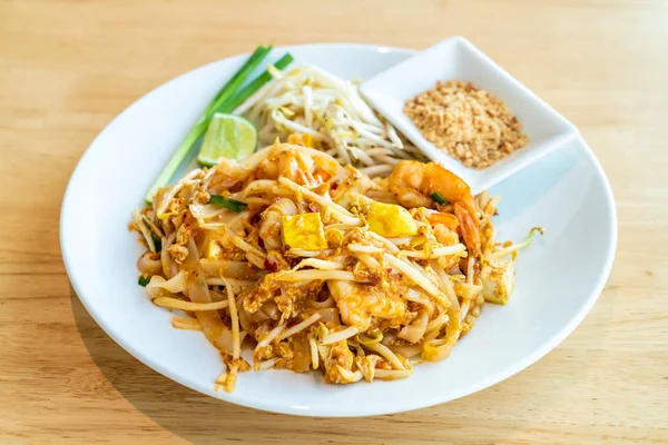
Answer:
<path fill-rule="evenodd" d="M 244 159 L 257 147 L 257 130 L 247 119 L 218 112 L 204 136 L 197 162 L 212 167 L 223 158 Z"/>

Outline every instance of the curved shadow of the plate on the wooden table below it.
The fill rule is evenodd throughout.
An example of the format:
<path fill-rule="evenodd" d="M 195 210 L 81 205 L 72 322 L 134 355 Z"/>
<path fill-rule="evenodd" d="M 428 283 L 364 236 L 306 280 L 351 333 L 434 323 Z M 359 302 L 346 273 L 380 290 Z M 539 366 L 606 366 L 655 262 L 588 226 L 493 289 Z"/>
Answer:
<path fill-rule="evenodd" d="M 541 395 L 541 403 L 531 416 L 525 419 L 524 416 L 509 416 L 505 409 L 512 411 L 513 405 L 494 394 L 503 392 L 501 387 L 505 384 L 500 384 L 448 405 L 355 422 L 259 412 L 202 395 L 154 372 L 107 336 L 71 288 L 70 299 L 84 343 L 109 383 L 146 416 L 194 444 L 227 441 L 403 444 L 406 441 L 443 443 L 443 437 L 458 444 L 493 444 L 531 434 L 531 419 L 540 422 L 541 411 L 549 411 L 550 406 L 560 403 L 554 394 L 548 395 L 549 403 Z M 515 389 L 511 387 L 507 392 L 512 394 Z M 517 402 L 517 397 L 514 399 Z M 518 409 L 517 405 L 514 408 Z M 495 413 L 505 415 L 494 419 Z M 387 423 L 397 427 L 390 429 Z M 397 431 L 405 433 L 397 435 Z"/>

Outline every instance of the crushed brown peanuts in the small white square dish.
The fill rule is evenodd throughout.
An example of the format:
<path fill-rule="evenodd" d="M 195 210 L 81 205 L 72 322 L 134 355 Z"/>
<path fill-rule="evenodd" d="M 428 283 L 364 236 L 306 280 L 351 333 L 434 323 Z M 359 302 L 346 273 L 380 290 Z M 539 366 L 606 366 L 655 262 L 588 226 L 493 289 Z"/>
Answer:
<path fill-rule="evenodd" d="M 505 102 L 471 82 L 438 82 L 409 99 L 404 112 L 429 141 L 466 167 L 489 167 L 529 141 Z"/>

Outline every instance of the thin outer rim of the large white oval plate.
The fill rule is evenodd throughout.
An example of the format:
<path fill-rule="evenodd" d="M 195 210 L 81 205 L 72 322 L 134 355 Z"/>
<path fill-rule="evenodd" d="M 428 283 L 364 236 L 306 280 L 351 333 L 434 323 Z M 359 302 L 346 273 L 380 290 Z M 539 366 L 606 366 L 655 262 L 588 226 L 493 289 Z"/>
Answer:
<path fill-rule="evenodd" d="M 379 52 L 379 53 L 387 53 L 387 52 L 396 53 L 396 52 L 399 52 L 399 53 L 403 53 L 406 56 L 415 55 L 419 51 L 415 49 L 403 48 L 403 47 L 393 47 L 393 46 L 384 46 L 384 44 L 375 44 L 375 43 L 355 43 L 355 42 L 351 42 L 351 43 L 348 43 L 348 42 L 324 42 L 324 43 L 304 43 L 304 44 L 289 44 L 289 46 L 275 47 L 275 49 L 277 49 L 277 50 L 310 49 L 310 48 L 311 49 L 316 49 L 316 48 L 317 49 L 357 48 L 357 49 L 371 50 L 371 51 Z M 183 73 L 167 80 L 166 82 L 158 85 L 157 87 L 150 89 L 149 91 L 147 91 L 144 95 L 141 95 L 140 97 L 138 97 L 136 100 L 134 100 L 127 107 L 125 107 L 120 112 L 115 115 L 112 117 L 112 119 L 109 122 L 107 122 L 102 129 L 100 129 L 100 131 L 97 134 L 97 136 L 88 145 L 88 148 L 86 149 L 86 151 L 81 155 L 81 157 L 77 161 L 77 165 L 76 165 L 75 169 L 72 170 L 72 174 L 68 180 L 67 188 L 65 190 L 62 202 L 61 202 L 61 210 L 60 210 L 60 217 L 59 217 L 60 253 L 61 253 L 61 257 L 62 257 L 62 260 L 65 264 L 67 276 L 68 276 L 71 287 L 73 288 L 75 293 L 77 294 L 77 297 L 79 298 L 79 300 L 81 301 L 81 304 L 84 305 L 84 307 L 86 308 L 88 314 L 91 316 L 91 318 L 98 324 L 98 326 L 105 332 L 105 334 L 107 334 L 124 350 L 126 350 L 128 354 L 130 354 L 137 360 L 139 360 L 144 365 L 148 366 L 156 373 L 161 374 L 163 376 L 165 376 L 183 386 L 186 386 L 187 388 L 190 388 L 200 394 L 205 394 L 207 396 L 210 396 L 210 397 L 214 397 L 219 400 L 227 402 L 227 403 L 232 403 L 232 404 L 236 404 L 236 405 L 240 405 L 240 406 L 245 406 L 245 407 L 249 407 L 249 408 L 261 409 L 261 411 L 265 411 L 265 412 L 299 415 L 299 416 L 362 417 L 362 416 L 403 413 L 403 412 L 409 412 L 409 411 L 414 411 L 414 409 L 420 409 L 420 408 L 426 408 L 430 406 L 435 406 L 435 405 L 444 404 L 444 403 L 448 403 L 451 400 L 455 400 L 458 398 L 478 393 L 482 389 L 493 386 L 493 385 L 522 372 L 523 369 L 531 366 L 533 363 L 538 362 L 540 358 L 544 357 L 549 352 L 551 352 L 557 346 L 559 346 L 559 344 L 561 344 L 578 327 L 578 325 L 584 319 L 587 314 L 589 314 L 589 312 L 591 310 L 591 308 L 593 307 L 593 305 L 600 297 L 601 291 L 603 290 L 603 287 L 606 285 L 608 277 L 610 276 L 610 271 L 612 269 L 612 264 L 615 261 L 617 244 L 618 244 L 618 216 L 617 216 L 617 204 L 615 201 L 610 181 L 609 181 L 601 164 L 599 162 L 598 158 L 593 154 L 593 150 L 591 149 L 591 147 L 589 147 L 589 145 L 587 144 L 587 141 L 583 139 L 583 137 L 581 135 L 578 135 L 578 137 L 576 138 L 577 141 L 581 146 L 581 149 L 586 154 L 587 158 L 591 161 L 597 175 L 602 179 L 603 194 L 605 194 L 605 197 L 607 198 L 607 204 L 608 204 L 608 208 L 610 211 L 610 228 L 611 228 L 611 234 L 610 234 L 611 237 L 610 238 L 611 239 L 610 239 L 610 245 L 609 245 L 608 251 L 606 254 L 606 260 L 603 263 L 603 267 L 601 268 L 601 271 L 596 279 L 596 286 L 593 287 L 593 290 L 586 297 L 586 301 L 583 303 L 583 305 L 580 306 L 579 310 L 568 322 L 568 324 L 566 324 L 562 328 L 560 328 L 551 338 L 549 338 L 549 340 L 544 342 L 541 347 L 537 348 L 531 354 L 528 354 L 522 359 L 515 362 L 512 366 L 509 366 L 505 372 L 499 372 L 499 373 L 491 374 L 488 378 L 483 378 L 480 382 L 477 382 L 475 384 L 465 387 L 466 390 L 463 390 L 463 392 L 454 390 L 450 396 L 441 397 L 441 398 L 436 397 L 436 399 L 430 399 L 426 403 L 421 402 L 421 399 L 419 399 L 419 398 L 409 399 L 409 400 L 402 402 L 402 404 L 389 405 L 387 408 L 385 408 L 385 409 L 373 409 L 373 408 L 366 409 L 364 406 L 361 406 L 353 414 L 332 411 L 331 408 L 322 408 L 322 407 L 313 407 L 313 406 L 308 407 L 307 409 L 304 409 L 305 407 L 303 407 L 303 406 L 296 407 L 296 406 L 291 405 L 289 403 L 281 404 L 281 403 L 266 402 L 266 400 L 248 402 L 245 399 L 239 399 L 239 398 L 234 397 L 234 395 L 233 395 L 234 393 L 233 394 L 223 393 L 223 392 L 212 393 L 212 392 L 205 390 L 204 388 L 198 387 L 197 385 L 193 385 L 189 382 L 187 382 L 186 379 L 180 378 L 180 376 L 177 376 L 176 373 L 173 373 L 168 367 L 163 367 L 160 364 L 154 362 L 151 358 L 140 354 L 132 346 L 131 343 L 126 343 L 126 342 L 119 340 L 118 337 L 115 335 L 114 328 L 106 324 L 105 317 L 102 317 L 99 313 L 96 312 L 95 305 L 91 303 L 92 300 L 88 300 L 84 296 L 82 286 L 80 285 L 80 283 L 78 283 L 78 279 L 75 278 L 76 274 L 72 274 L 72 270 L 73 270 L 72 258 L 70 258 L 70 254 L 67 248 L 67 243 L 66 243 L 67 237 L 66 237 L 66 230 L 63 229 L 63 227 L 68 219 L 68 214 L 70 211 L 72 211 L 72 210 L 70 210 L 71 205 L 68 205 L 68 202 L 72 199 L 73 182 L 76 182 L 75 179 L 81 175 L 82 165 L 86 162 L 86 159 L 91 154 L 90 148 L 96 145 L 98 139 L 101 137 L 101 135 L 106 134 L 108 128 L 120 116 L 126 113 L 135 105 L 137 105 L 138 102 L 140 102 L 143 100 L 147 100 L 147 98 L 153 96 L 156 91 L 158 91 L 163 88 L 168 88 L 169 85 L 171 85 L 173 82 L 177 81 L 178 79 L 180 79 L 183 77 L 190 76 L 191 73 L 197 72 L 199 70 L 205 70 L 215 63 L 219 63 L 223 61 L 236 60 L 236 59 L 243 58 L 247 55 L 248 55 L 247 52 L 234 55 L 234 56 L 225 57 L 223 59 L 214 60 L 212 62 L 196 67 L 194 69 L 190 69 L 186 72 L 183 72 Z M 213 385 L 212 385 L 212 387 L 213 387 Z"/>

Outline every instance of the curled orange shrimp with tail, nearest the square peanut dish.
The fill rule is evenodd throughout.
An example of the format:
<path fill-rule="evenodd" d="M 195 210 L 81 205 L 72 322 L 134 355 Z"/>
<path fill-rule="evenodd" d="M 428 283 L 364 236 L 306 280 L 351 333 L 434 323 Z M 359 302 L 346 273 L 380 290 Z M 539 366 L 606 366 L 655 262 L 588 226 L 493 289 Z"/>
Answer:
<path fill-rule="evenodd" d="M 480 222 L 471 188 L 459 176 L 434 162 L 402 160 L 390 176 L 390 190 L 406 207 L 434 207 L 432 194 L 454 206 L 466 248 L 480 255 Z"/>

